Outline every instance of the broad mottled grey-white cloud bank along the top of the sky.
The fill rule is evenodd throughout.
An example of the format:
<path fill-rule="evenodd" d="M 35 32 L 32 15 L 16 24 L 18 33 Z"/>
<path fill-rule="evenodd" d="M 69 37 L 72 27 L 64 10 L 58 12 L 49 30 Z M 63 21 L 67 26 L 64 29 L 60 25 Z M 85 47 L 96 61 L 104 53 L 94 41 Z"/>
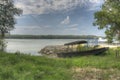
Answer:
<path fill-rule="evenodd" d="M 69 11 L 90 3 L 97 5 L 101 0 L 15 0 L 15 5 L 23 9 L 24 14 Z"/>

